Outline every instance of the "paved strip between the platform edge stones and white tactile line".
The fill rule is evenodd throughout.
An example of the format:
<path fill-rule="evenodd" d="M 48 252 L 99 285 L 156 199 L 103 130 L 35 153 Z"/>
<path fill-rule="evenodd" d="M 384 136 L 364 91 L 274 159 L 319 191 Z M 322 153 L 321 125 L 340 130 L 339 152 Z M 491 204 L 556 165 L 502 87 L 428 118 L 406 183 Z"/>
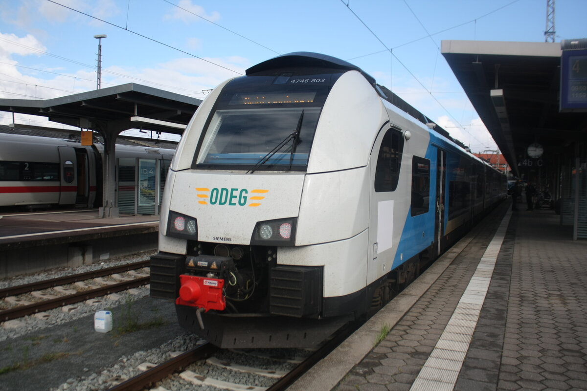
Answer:
<path fill-rule="evenodd" d="M 384 341 L 350 371 L 350 376 L 343 379 L 337 390 L 346 390 L 348 387 L 360 391 L 370 390 L 374 383 L 372 380 L 375 379 L 371 377 L 374 373 L 387 375 L 384 386 L 388 389 L 410 389 L 438 342 L 500 222 L 501 218 L 484 222 L 487 226 L 478 229 L 471 243 L 397 322 Z M 380 348 L 386 350 L 383 352 Z M 359 378 L 361 381 L 357 382 Z M 380 382 L 382 378 L 376 379 Z"/>

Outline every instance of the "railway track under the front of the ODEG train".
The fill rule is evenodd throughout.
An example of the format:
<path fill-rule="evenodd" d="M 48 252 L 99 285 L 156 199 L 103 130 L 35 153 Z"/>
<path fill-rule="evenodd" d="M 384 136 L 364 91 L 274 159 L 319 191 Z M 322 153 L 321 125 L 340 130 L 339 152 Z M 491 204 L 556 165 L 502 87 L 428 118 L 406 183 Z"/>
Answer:
<path fill-rule="evenodd" d="M 315 351 L 305 351 L 306 354 L 303 356 L 288 353 L 299 351 L 299 349 L 280 349 L 275 354 L 263 354 L 262 350 L 257 349 L 219 349 L 206 343 L 160 365 L 151 365 L 152 368 L 149 369 L 147 369 L 149 363 L 144 363 L 144 372 L 113 386 L 109 391 L 149 389 L 170 375 L 182 379 L 191 386 L 212 386 L 232 391 L 285 390 L 303 373 L 312 368 L 316 362 L 348 338 L 357 327 L 359 324 L 349 325 Z M 264 364 L 242 365 L 242 362 L 251 360 L 261 360 L 264 361 Z M 282 370 L 284 363 L 292 368 Z M 242 375 L 230 375 L 231 372 L 239 372 Z M 227 380 L 227 378 L 247 380 L 234 382 Z M 165 383 L 163 382 L 162 385 L 160 383 L 156 390 L 167 390 Z"/>

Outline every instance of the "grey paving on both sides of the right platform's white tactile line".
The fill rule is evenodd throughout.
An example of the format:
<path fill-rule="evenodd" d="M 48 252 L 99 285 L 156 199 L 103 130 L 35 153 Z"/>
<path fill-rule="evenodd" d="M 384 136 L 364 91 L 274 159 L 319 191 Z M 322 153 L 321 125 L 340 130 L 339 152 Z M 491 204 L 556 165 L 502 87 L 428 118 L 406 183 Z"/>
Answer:
<path fill-rule="evenodd" d="M 410 390 L 417 376 L 440 376 L 421 374 L 421 369 L 502 216 L 483 223 L 475 239 L 336 390 Z M 587 241 L 571 237 L 551 210 L 512 215 L 472 338 L 451 334 L 455 344 L 470 342 L 467 352 L 433 356 L 437 368 L 443 359 L 447 365 L 454 362 L 448 359 L 464 359 L 451 389 L 587 390 Z M 469 320 L 466 314 L 461 319 Z"/>

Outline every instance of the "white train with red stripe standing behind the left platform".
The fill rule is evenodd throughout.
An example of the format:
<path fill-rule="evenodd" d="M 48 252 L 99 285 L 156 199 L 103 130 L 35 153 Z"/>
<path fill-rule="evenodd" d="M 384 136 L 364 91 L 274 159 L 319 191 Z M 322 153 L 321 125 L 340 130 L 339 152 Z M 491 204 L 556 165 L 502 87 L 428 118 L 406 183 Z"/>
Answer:
<path fill-rule="evenodd" d="M 102 144 L 83 147 L 66 138 L 0 133 L 0 208 L 101 206 L 103 152 Z M 117 158 L 161 160 L 163 178 L 174 152 L 116 146 Z"/>

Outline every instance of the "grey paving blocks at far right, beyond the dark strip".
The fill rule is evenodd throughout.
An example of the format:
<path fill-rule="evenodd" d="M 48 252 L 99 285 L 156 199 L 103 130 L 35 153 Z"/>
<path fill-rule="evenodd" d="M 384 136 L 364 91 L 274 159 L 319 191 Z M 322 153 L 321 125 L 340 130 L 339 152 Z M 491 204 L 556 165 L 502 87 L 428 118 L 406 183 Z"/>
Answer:
<path fill-rule="evenodd" d="M 587 390 L 587 242 L 570 240 L 548 212 L 518 216 L 501 359 L 510 372 L 500 373 L 507 390 Z"/>

